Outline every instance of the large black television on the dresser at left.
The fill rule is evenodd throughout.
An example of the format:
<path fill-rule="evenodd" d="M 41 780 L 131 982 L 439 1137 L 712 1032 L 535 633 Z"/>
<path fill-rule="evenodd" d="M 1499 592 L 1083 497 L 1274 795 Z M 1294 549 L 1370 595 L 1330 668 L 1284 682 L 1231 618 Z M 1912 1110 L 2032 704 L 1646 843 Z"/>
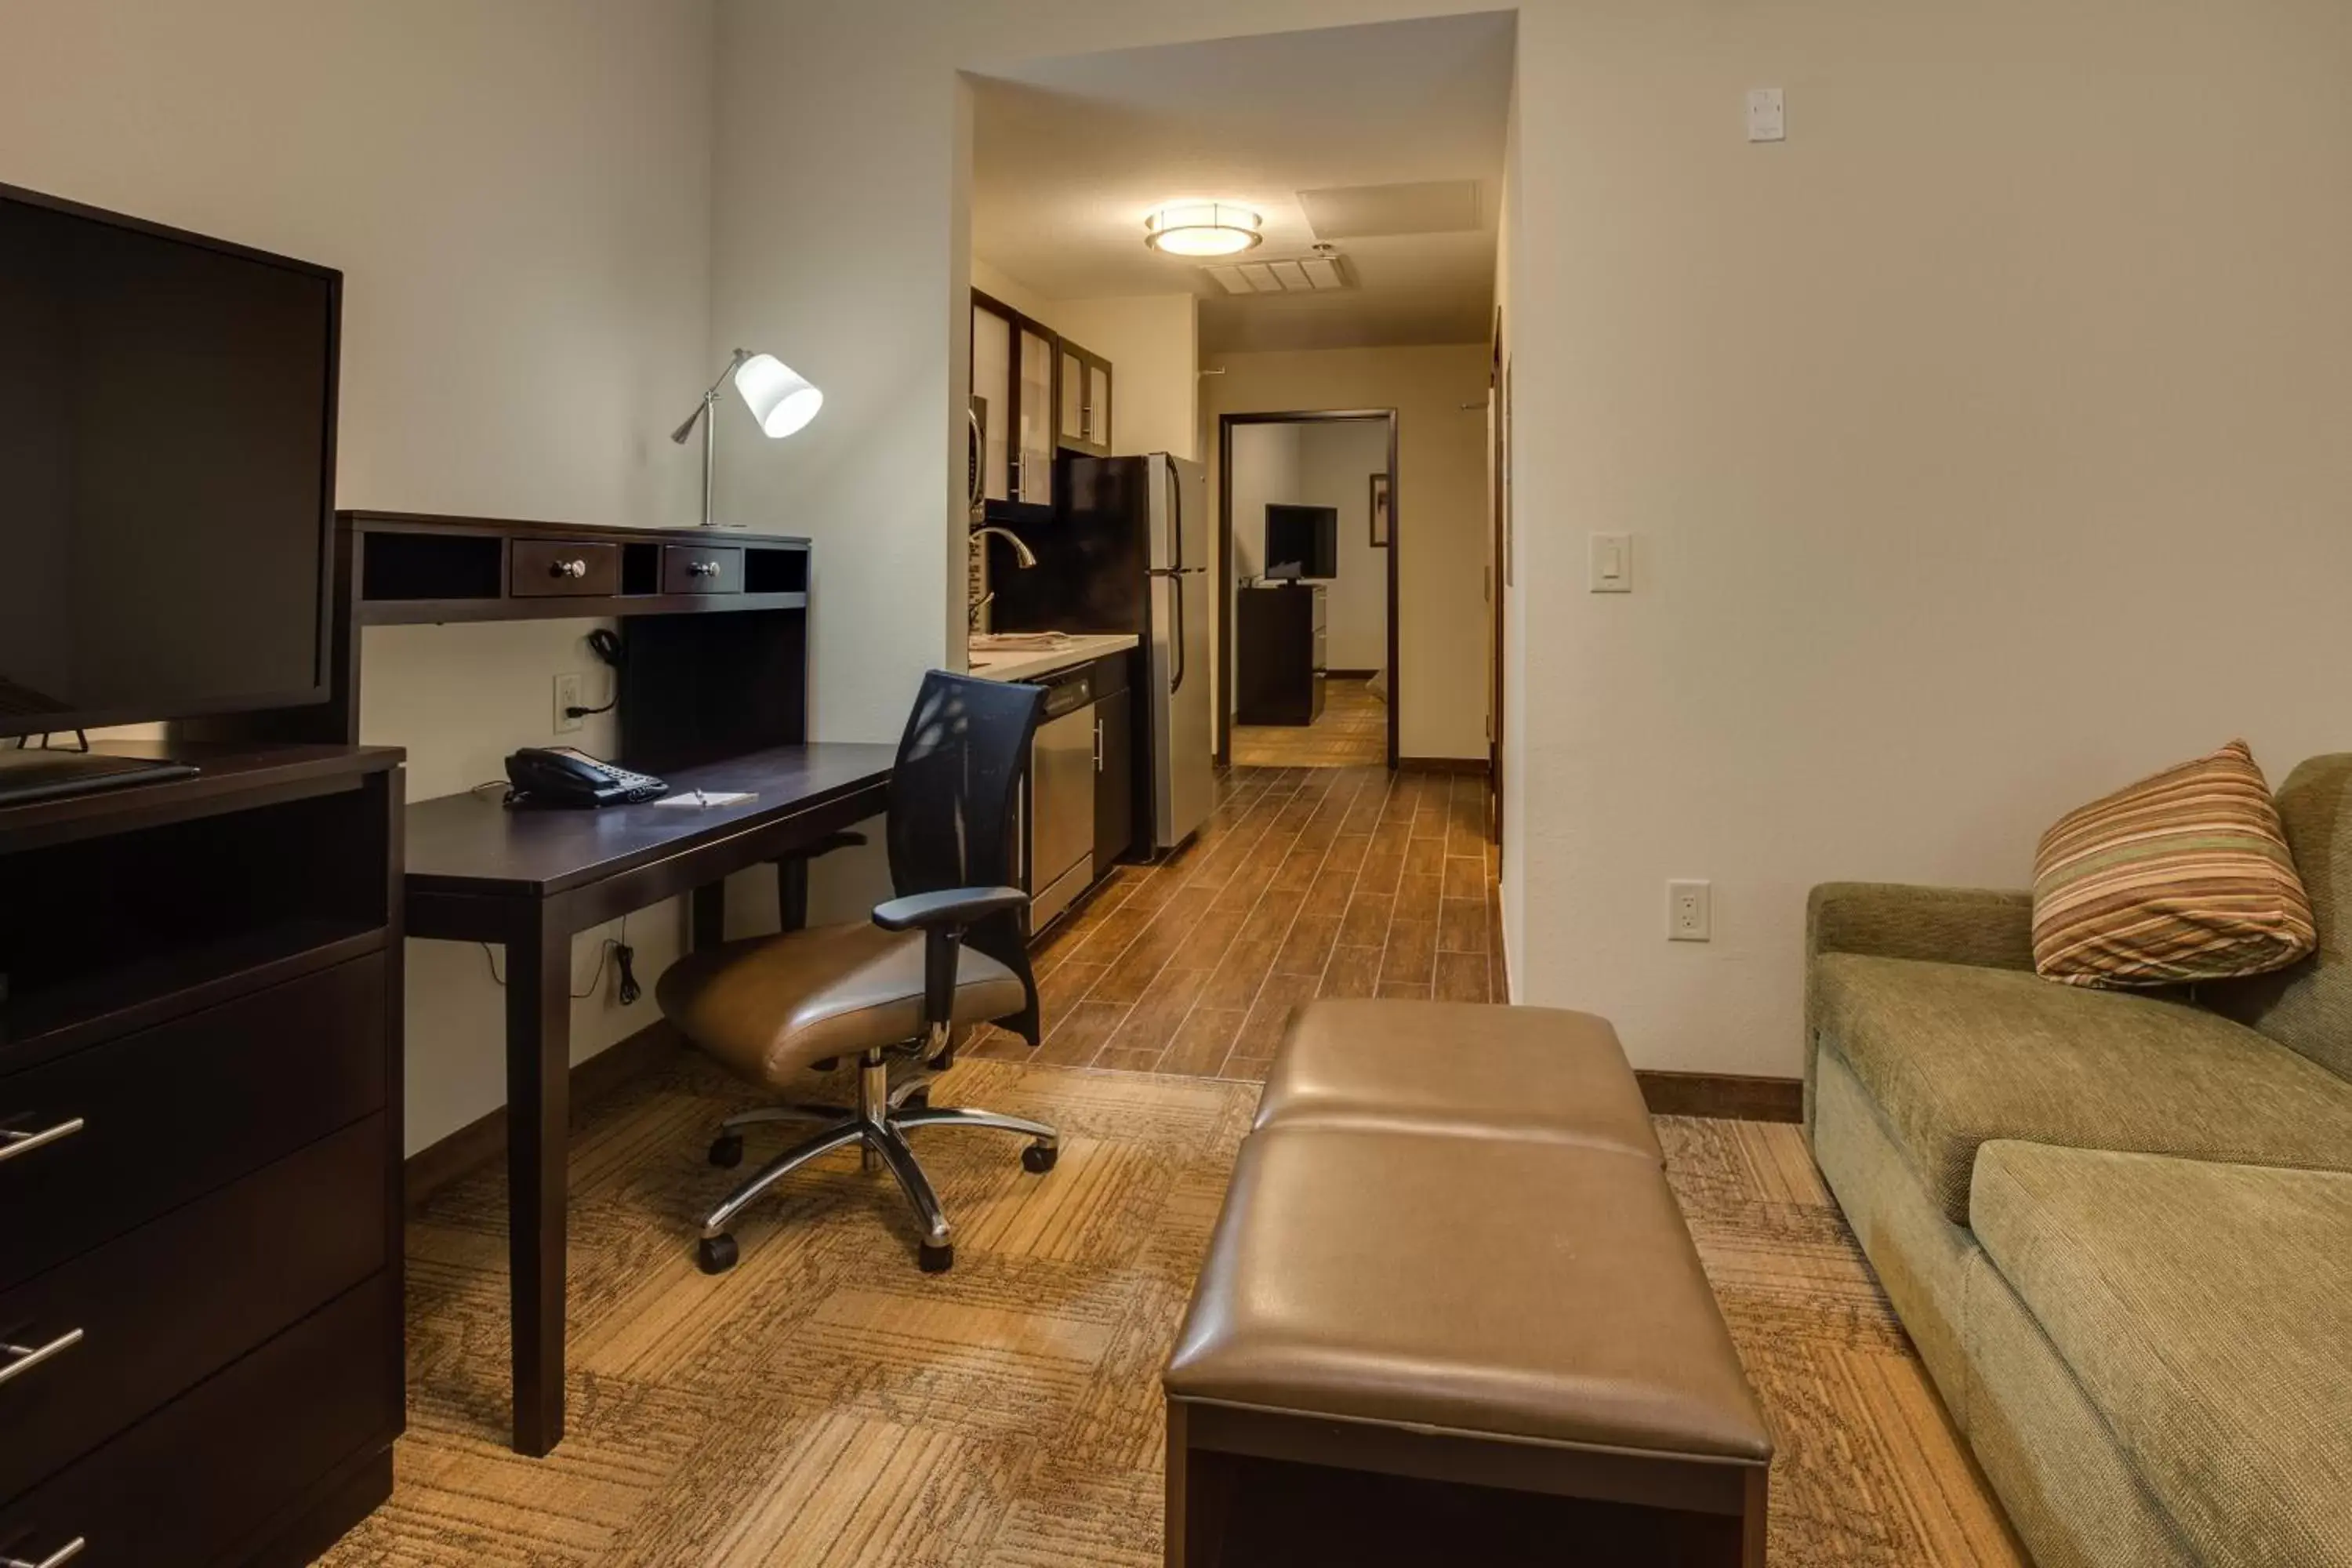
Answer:
<path fill-rule="evenodd" d="M 0 736 L 325 698 L 339 308 L 0 186 Z"/>

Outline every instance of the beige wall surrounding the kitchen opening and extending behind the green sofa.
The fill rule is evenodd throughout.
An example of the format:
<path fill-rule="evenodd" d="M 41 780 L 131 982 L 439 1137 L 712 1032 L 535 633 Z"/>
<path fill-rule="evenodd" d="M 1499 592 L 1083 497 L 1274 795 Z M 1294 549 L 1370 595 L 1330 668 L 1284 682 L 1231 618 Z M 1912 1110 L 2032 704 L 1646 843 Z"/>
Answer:
<path fill-rule="evenodd" d="M 833 712 L 946 630 L 955 71 L 1444 9 L 1475 7 L 722 0 L 720 329 L 854 362 L 861 461 L 776 480 L 861 541 Z M 1644 1065 L 1795 1072 L 1809 884 L 2016 882 L 2140 769 L 2345 741 L 2347 71 L 2336 0 L 1519 9 L 1524 999 L 1613 1013 Z M 1743 139 L 1762 85 L 1783 146 Z M 1597 529 L 1635 595 L 1583 592 Z M 2183 637 L 2216 654 L 2152 656 Z M 1663 940 L 1670 877 L 1715 882 L 1712 945 Z"/>

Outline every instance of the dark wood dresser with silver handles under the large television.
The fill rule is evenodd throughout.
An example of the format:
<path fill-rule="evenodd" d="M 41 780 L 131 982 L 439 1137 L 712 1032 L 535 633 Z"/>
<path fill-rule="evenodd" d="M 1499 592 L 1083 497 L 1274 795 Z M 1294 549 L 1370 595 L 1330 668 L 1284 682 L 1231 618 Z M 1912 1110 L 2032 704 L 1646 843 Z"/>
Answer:
<path fill-rule="evenodd" d="M 308 1563 L 402 1427 L 400 752 L 125 750 L 202 773 L 0 809 L 0 1561 Z"/>

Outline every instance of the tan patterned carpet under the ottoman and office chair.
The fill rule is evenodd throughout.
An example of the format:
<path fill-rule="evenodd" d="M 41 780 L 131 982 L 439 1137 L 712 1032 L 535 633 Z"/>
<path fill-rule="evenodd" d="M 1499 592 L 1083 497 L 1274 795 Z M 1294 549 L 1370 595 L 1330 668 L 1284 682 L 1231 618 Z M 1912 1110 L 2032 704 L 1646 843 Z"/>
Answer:
<path fill-rule="evenodd" d="M 367 1566 L 1157 1568 L 1160 1361 L 1256 1088 L 964 1060 L 941 1103 L 1061 1126 L 1061 1166 L 922 1135 L 957 1267 L 915 1269 L 854 1154 L 694 1269 L 727 1178 L 708 1128 L 748 1095 L 677 1056 L 595 1105 L 572 1154 L 572 1418 L 506 1450 L 503 1175 L 409 1227 L 400 1486 L 325 1561 Z M 1661 1121 L 1780 1434 L 1776 1568 L 2023 1563 L 1830 1206 L 1797 1128 Z M 755 1145 L 753 1159 L 760 1157 Z"/>

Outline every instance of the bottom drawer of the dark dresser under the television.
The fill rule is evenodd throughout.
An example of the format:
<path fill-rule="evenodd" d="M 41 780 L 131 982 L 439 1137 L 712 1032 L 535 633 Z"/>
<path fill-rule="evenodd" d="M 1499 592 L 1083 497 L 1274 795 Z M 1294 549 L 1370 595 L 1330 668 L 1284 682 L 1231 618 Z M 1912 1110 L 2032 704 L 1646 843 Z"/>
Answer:
<path fill-rule="evenodd" d="M 390 1274 L 336 1298 L 40 1488 L 0 1502 L 0 1556 L 73 1568 L 212 1568 L 245 1559 L 273 1519 L 400 1432 Z"/>

